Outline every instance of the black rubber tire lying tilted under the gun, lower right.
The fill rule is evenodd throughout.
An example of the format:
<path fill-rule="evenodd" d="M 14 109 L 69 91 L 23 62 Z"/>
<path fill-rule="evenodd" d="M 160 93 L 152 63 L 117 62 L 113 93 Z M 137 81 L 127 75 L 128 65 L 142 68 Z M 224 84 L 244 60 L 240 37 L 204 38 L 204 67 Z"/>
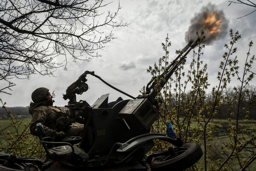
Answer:
<path fill-rule="evenodd" d="M 203 151 L 197 143 L 186 143 L 182 147 L 175 147 L 177 155 L 159 156 L 151 162 L 151 171 L 183 171 L 194 165 L 202 156 Z"/>

